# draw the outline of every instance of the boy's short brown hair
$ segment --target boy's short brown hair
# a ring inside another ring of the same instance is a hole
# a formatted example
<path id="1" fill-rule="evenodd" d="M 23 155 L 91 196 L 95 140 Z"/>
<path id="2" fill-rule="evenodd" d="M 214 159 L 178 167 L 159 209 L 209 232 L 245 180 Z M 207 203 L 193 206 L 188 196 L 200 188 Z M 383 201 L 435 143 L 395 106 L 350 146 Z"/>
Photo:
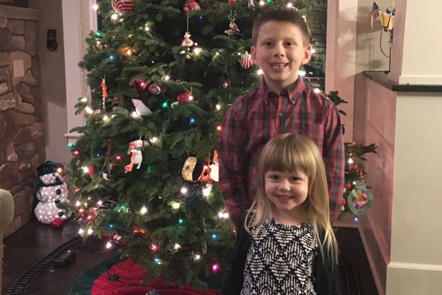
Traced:
<path id="1" fill-rule="evenodd" d="M 253 31 L 252 31 L 252 44 L 256 46 L 256 42 L 258 41 L 259 30 L 262 25 L 268 22 L 280 22 L 280 23 L 289 23 L 297 26 L 301 33 L 303 34 L 303 45 L 307 46 L 310 44 L 310 35 L 308 33 L 307 24 L 305 23 L 302 16 L 293 8 L 286 8 L 284 6 L 280 7 L 271 7 L 264 9 L 261 14 L 256 18 L 253 22 Z"/>

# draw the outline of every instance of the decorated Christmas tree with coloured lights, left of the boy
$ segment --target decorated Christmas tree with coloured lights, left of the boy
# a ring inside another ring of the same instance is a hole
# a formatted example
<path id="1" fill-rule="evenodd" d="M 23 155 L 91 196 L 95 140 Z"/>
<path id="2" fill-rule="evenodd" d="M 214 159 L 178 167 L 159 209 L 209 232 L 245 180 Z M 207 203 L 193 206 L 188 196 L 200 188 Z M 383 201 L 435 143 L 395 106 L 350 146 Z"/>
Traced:
<path id="1" fill-rule="evenodd" d="M 286 0 L 103 0 L 80 67 L 90 86 L 70 145 L 80 233 L 118 236 L 143 281 L 206 288 L 233 245 L 218 185 L 224 115 L 259 84 L 253 20 Z M 60 204 L 63 207 L 65 204 Z M 116 233 L 116 234 L 115 234 Z"/>

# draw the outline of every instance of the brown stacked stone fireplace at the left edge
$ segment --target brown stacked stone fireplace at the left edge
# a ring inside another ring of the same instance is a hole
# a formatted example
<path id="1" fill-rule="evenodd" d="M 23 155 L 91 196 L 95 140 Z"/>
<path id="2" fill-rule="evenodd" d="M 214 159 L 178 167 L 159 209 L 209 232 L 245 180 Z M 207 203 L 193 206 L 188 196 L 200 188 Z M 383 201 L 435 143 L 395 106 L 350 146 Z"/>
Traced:
<path id="1" fill-rule="evenodd" d="M 35 169 L 46 158 L 38 23 L 0 18 L 0 40 L 0 188 L 11 192 L 15 204 L 8 236 L 31 219 Z"/>

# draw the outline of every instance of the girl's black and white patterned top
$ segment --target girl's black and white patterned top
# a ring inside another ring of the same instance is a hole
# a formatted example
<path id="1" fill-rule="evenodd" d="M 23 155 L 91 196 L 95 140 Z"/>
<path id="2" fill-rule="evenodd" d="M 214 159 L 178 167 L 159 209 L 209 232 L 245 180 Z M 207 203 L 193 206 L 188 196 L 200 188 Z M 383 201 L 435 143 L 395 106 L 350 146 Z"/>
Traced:
<path id="1" fill-rule="evenodd" d="M 286 226 L 272 218 L 252 236 L 241 295 L 316 295 L 312 268 L 318 246 L 310 223 Z"/>

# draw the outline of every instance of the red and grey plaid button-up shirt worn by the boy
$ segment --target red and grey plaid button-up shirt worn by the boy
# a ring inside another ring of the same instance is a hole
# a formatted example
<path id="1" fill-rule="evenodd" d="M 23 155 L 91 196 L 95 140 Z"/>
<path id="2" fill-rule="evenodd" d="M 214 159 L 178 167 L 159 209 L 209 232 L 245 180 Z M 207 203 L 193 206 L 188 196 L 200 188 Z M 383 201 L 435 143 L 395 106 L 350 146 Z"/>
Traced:
<path id="1" fill-rule="evenodd" d="M 344 146 L 336 106 L 304 84 L 301 77 L 280 95 L 264 79 L 229 108 L 221 128 L 220 186 L 235 225 L 256 194 L 256 168 L 264 145 L 282 133 L 303 134 L 315 142 L 326 165 L 333 222 L 342 202 Z"/>

